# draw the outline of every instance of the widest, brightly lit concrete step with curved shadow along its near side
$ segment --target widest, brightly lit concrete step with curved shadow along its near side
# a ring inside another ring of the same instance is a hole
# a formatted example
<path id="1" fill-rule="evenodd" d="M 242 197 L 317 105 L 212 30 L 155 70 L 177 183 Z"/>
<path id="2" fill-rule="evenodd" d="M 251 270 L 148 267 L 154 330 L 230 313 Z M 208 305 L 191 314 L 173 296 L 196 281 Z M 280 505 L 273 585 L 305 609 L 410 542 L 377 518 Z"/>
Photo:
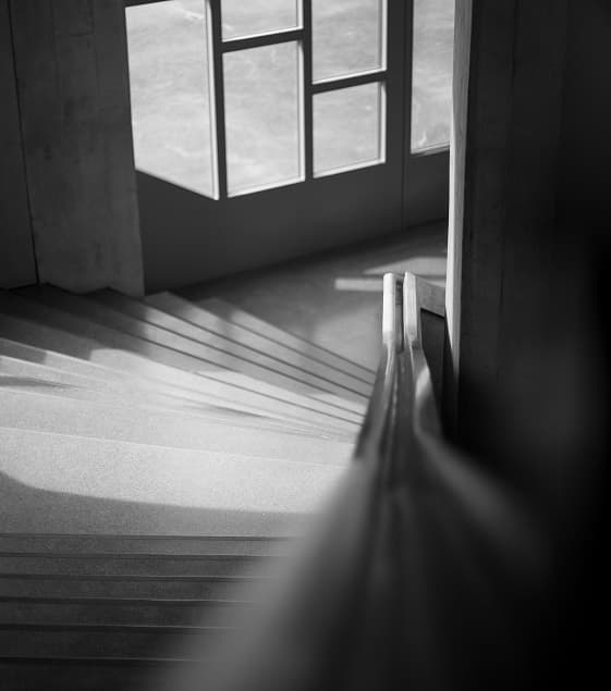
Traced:
<path id="1" fill-rule="evenodd" d="M 4 532 L 298 535 L 344 468 L 0 428 Z"/>

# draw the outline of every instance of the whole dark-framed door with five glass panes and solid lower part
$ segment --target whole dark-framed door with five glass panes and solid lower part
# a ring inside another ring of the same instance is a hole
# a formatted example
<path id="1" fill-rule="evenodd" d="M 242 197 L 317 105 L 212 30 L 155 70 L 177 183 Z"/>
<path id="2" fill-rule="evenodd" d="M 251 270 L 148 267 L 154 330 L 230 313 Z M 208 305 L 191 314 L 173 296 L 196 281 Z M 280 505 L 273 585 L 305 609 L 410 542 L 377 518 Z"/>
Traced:
<path id="1" fill-rule="evenodd" d="M 410 2 L 127 4 L 147 289 L 405 226 Z"/>

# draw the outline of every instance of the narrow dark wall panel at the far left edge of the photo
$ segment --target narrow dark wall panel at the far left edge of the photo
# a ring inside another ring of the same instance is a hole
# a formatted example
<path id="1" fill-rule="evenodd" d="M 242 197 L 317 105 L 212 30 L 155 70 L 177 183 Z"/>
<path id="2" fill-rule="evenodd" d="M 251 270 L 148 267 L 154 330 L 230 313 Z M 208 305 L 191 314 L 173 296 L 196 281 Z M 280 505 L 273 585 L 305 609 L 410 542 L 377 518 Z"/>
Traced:
<path id="1" fill-rule="evenodd" d="M 9 0 L 0 0 L 0 287 L 36 282 Z"/>

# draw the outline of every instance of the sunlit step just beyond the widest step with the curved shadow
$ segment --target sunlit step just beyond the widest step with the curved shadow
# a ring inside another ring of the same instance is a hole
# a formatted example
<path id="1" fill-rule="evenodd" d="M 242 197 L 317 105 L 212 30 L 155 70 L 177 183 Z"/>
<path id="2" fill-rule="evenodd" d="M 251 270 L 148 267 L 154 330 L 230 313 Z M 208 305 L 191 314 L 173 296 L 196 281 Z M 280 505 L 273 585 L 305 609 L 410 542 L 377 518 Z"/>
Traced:
<path id="1" fill-rule="evenodd" d="M 1 381 L 1 379 L 0 379 Z M 262 456 L 305 462 L 345 464 L 352 445 L 271 429 L 239 427 L 232 421 L 210 421 L 170 415 L 112 402 L 58 398 L 5 391 L 0 387 L 2 427 L 91 436 L 173 448 L 221 454 Z"/>

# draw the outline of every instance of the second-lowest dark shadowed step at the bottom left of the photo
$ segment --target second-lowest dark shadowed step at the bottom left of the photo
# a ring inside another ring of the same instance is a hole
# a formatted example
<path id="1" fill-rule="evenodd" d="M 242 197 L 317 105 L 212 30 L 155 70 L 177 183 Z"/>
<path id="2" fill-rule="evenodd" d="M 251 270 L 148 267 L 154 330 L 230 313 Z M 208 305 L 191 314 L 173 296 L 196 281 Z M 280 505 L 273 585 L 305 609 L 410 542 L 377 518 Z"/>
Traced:
<path id="1" fill-rule="evenodd" d="M 1 657 L 180 657 L 209 645 L 233 629 L 222 627 L 154 627 L 137 625 L 3 625 Z M 188 640 L 191 639 L 191 640 Z"/>

